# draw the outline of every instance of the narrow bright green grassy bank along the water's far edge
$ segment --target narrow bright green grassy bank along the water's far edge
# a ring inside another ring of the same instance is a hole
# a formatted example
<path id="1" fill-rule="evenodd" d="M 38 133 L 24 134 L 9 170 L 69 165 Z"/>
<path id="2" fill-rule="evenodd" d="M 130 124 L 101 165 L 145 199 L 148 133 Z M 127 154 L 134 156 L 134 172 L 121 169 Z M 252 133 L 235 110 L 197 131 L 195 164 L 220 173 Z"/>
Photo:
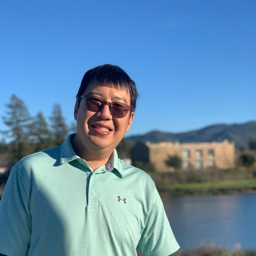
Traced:
<path id="1" fill-rule="evenodd" d="M 156 183 L 156 187 L 159 193 L 171 196 L 256 193 L 256 178 L 168 185 Z"/>

